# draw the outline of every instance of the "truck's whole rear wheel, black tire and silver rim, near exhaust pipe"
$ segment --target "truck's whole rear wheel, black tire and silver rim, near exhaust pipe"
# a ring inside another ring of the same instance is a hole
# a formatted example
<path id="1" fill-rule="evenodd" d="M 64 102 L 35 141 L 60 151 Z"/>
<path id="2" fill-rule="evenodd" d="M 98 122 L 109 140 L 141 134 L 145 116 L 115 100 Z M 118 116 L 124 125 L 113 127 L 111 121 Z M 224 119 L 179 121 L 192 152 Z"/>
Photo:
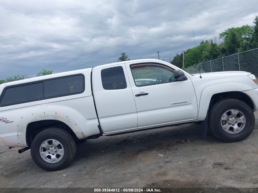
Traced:
<path id="1" fill-rule="evenodd" d="M 62 170 L 74 159 L 76 145 L 65 130 L 43 130 L 31 143 L 31 157 L 40 168 L 47 171 Z"/>

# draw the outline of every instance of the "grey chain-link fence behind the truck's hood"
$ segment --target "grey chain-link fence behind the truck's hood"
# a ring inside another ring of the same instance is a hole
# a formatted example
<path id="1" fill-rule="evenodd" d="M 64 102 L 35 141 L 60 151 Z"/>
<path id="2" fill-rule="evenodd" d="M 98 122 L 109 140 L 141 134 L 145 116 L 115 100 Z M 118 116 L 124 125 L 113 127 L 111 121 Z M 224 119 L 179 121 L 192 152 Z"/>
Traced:
<path id="1" fill-rule="evenodd" d="M 258 77 L 258 48 L 214 60 L 211 59 L 185 69 L 190 74 L 237 70 L 247 71 Z"/>

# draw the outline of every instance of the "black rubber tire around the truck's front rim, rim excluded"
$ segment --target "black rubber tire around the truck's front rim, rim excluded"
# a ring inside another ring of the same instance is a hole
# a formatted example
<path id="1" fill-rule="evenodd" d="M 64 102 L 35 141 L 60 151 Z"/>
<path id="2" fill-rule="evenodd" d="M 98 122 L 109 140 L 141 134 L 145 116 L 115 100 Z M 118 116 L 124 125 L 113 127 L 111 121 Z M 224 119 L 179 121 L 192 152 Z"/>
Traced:
<path id="1" fill-rule="evenodd" d="M 238 133 L 227 133 L 221 126 L 223 113 L 230 109 L 240 110 L 245 116 L 245 126 Z M 245 103 L 236 99 L 224 99 L 216 104 L 209 111 L 208 125 L 212 133 L 222 141 L 235 142 L 247 138 L 253 131 L 255 117 L 253 110 Z"/>

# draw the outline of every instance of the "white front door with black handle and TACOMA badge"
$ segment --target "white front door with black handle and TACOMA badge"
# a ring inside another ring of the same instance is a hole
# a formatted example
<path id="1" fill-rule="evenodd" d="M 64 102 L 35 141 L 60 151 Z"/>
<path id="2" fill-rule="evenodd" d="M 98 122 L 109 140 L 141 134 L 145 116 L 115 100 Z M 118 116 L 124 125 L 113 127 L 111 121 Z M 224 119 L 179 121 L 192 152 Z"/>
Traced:
<path id="1" fill-rule="evenodd" d="M 138 127 L 169 125 L 197 118 L 191 79 L 177 81 L 166 63 L 126 63 L 136 103 Z"/>

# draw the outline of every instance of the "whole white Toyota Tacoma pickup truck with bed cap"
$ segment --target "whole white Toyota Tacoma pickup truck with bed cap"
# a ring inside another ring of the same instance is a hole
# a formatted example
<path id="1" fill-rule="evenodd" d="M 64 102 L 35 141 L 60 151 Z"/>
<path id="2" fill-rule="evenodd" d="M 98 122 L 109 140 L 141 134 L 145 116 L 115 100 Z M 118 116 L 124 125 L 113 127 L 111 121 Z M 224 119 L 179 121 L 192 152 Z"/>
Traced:
<path id="1" fill-rule="evenodd" d="M 201 121 L 220 140 L 247 138 L 258 106 L 256 77 L 190 75 L 155 59 L 111 63 L 0 85 L 0 145 L 31 149 L 44 170 L 65 168 L 76 141 Z"/>

